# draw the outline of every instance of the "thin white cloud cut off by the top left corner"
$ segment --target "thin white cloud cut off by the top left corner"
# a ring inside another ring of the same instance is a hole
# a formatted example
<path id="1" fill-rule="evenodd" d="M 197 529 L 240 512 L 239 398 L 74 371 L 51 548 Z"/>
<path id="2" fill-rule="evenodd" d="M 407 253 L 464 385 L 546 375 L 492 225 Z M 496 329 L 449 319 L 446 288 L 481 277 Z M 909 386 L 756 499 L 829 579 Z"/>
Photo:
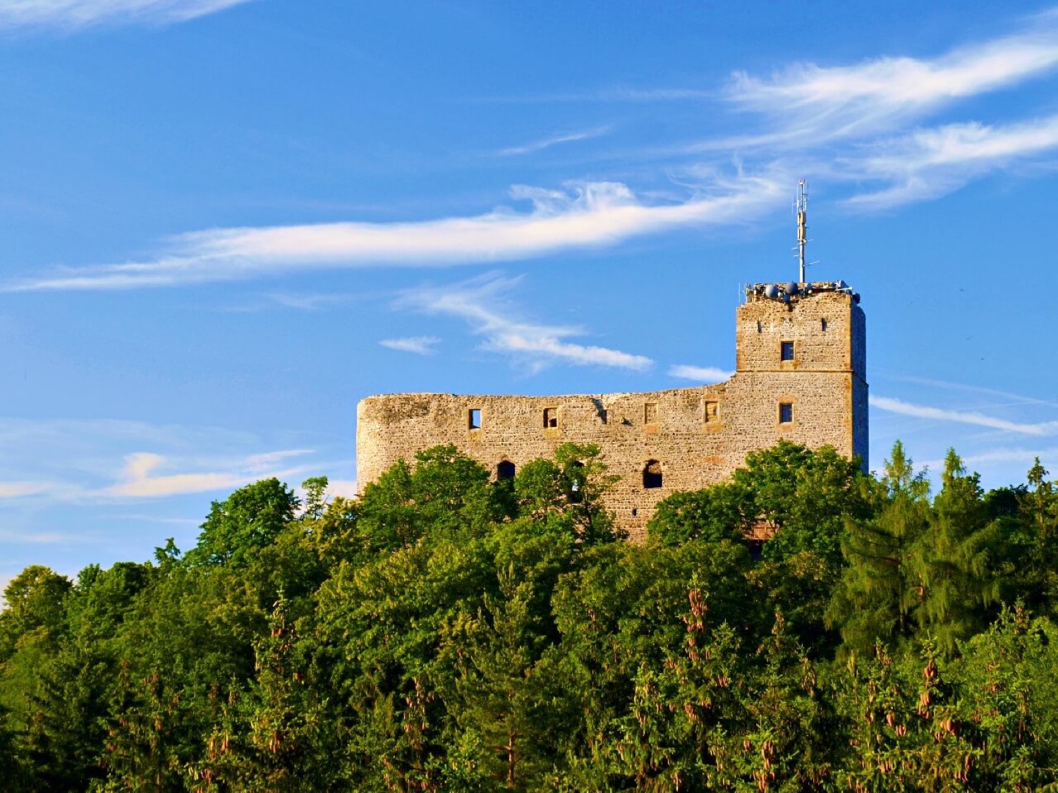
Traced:
<path id="1" fill-rule="evenodd" d="M 0 2 L 0 30 L 69 30 L 106 22 L 169 24 L 245 2 L 250 0 L 3 0 Z"/>

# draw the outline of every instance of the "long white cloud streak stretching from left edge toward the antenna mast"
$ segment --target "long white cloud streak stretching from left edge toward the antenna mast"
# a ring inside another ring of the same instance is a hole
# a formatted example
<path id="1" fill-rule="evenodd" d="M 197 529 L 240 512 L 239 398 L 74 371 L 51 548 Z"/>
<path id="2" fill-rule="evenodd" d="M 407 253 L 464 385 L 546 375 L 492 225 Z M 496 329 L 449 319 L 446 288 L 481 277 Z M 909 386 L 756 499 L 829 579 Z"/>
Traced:
<path id="1" fill-rule="evenodd" d="M 780 205 L 773 178 L 743 177 L 710 195 L 649 204 L 624 184 L 569 184 L 565 190 L 515 186 L 529 211 L 403 223 L 322 223 L 222 228 L 177 238 L 174 252 L 145 262 L 68 270 L 8 283 L 3 291 L 122 290 L 234 280 L 317 268 L 472 264 L 614 245 L 689 226 L 746 223 Z"/>

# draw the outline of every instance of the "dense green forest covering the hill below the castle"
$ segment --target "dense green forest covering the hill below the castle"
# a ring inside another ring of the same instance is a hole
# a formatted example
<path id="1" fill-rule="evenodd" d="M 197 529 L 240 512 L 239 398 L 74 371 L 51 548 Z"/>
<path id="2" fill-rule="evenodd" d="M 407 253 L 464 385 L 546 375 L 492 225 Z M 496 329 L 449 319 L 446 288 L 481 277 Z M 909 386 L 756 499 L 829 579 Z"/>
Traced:
<path id="1" fill-rule="evenodd" d="M 1058 790 L 1048 476 L 783 442 L 643 543 L 590 445 L 261 480 L 194 548 L 12 579 L 0 787 Z"/>

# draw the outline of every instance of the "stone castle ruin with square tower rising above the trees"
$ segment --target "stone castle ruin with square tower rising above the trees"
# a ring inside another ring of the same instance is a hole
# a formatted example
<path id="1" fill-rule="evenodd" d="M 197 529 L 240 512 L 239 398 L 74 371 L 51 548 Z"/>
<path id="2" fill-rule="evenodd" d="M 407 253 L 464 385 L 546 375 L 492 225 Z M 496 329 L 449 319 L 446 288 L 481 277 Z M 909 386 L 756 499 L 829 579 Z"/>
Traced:
<path id="1" fill-rule="evenodd" d="M 868 457 L 867 324 L 843 281 L 758 283 L 736 311 L 735 373 L 645 393 L 488 396 L 399 393 L 357 406 L 361 486 L 417 451 L 451 443 L 496 478 L 596 443 L 621 478 L 606 503 L 632 539 L 676 491 L 726 479 L 781 439 Z"/>

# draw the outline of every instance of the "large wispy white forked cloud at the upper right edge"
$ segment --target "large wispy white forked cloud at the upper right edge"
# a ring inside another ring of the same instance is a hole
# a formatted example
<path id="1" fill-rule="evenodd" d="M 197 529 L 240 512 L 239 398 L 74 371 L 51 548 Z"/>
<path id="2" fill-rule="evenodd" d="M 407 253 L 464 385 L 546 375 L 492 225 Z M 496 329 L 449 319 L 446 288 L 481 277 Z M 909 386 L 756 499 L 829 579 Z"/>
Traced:
<path id="1" fill-rule="evenodd" d="M 736 149 L 802 168 L 855 190 L 842 203 L 884 210 L 952 192 L 973 179 L 1033 164 L 1058 148 L 1058 117 L 985 124 L 931 115 L 957 102 L 1013 89 L 1058 71 L 1058 14 L 1026 30 L 935 57 L 880 57 L 820 67 L 806 62 L 767 78 L 736 73 L 728 102 L 763 124 L 735 137 L 687 147 L 699 154 Z M 910 128 L 910 129 L 909 129 Z M 1047 167 L 1047 164 L 1043 164 Z"/>

